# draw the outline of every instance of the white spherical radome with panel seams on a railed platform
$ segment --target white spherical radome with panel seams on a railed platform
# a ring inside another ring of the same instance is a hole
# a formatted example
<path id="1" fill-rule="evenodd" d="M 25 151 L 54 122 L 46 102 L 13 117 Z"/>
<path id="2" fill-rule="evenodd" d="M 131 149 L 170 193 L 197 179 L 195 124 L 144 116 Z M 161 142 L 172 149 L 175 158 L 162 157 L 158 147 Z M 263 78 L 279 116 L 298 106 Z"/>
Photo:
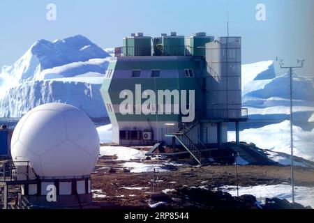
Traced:
<path id="1" fill-rule="evenodd" d="M 11 141 L 16 161 L 29 161 L 40 177 L 87 176 L 99 155 L 99 137 L 90 118 L 72 105 L 40 105 L 17 123 Z"/>

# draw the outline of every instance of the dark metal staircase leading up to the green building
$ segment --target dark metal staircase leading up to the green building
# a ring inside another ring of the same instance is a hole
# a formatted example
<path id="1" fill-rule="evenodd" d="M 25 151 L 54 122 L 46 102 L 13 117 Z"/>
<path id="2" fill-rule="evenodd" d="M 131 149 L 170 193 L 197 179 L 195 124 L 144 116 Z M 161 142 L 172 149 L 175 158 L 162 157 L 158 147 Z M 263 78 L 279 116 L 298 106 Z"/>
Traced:
<path id="1" fill-rule="evenodd" d="M 193 128 L 199 125 L 200 121 L 195 120 L 191 123 L 181 123 L 179 130 L 167 134 L 169 137 L 175 137 L 179 143 L 184 146 L 186 151 L 194 157 L 199 164 L 208 164 L 209 160 L 206 159 L 210 155 L 210 149 L 205 146 L 198 137 L 193 136 Z M 193 142 L 192 139 L 197 140 Z"/>

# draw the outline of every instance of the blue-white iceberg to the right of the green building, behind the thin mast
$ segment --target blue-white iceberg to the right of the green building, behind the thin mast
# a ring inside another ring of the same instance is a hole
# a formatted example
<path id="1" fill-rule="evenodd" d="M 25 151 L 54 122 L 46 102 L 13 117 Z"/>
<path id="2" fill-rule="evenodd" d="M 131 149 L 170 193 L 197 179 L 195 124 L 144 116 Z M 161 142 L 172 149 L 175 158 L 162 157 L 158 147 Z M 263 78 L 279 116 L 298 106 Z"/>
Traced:
<path id="1" fill-rule="evenodd" d="M 313 82 L 293 77 L 294 115 L 308 120 L 314 112 Z M 253 119 L 284 119 L 290 114 L 290 75 L 277 75 L 274 61 L 242 66 L 242 104 Z"/>

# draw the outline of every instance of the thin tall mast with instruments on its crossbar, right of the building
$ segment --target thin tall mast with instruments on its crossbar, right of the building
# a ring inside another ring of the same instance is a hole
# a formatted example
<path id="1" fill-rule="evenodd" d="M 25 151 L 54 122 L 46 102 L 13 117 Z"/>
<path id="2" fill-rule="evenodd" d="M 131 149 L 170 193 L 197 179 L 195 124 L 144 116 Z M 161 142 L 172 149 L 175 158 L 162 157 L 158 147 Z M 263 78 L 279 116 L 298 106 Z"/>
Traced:
<path id="1" fill-rule="evenodd" d="M 303 68 L 305 60 L 297 60 L 297 63 L 301 63 L 300 66 L 283 66 L 283 60 L 276 58 L 279 61 L 281 68 L 289 69 L 290 72 L 290 147 L 291 147 L 291 187 L 292 187 L 292 203 L 294 203 L 294 167 L 293 167 L 293 113 L 292 113 L 292 73 L 294 68 Z"/>

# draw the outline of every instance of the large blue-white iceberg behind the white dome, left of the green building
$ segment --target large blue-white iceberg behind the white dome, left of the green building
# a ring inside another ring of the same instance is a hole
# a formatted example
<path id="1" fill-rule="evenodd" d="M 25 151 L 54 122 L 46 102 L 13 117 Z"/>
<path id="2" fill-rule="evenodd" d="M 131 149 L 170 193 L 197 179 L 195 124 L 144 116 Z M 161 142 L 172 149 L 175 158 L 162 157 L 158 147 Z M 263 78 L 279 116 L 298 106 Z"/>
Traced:
<path id="1" fill-rule="evenodd" d="M 0 73 L 0 116 L 20 117 L 47 102 L 66 102 L 107 116 L 100 86 L 110 54 L 84 36 L 38 40 Z"/>

